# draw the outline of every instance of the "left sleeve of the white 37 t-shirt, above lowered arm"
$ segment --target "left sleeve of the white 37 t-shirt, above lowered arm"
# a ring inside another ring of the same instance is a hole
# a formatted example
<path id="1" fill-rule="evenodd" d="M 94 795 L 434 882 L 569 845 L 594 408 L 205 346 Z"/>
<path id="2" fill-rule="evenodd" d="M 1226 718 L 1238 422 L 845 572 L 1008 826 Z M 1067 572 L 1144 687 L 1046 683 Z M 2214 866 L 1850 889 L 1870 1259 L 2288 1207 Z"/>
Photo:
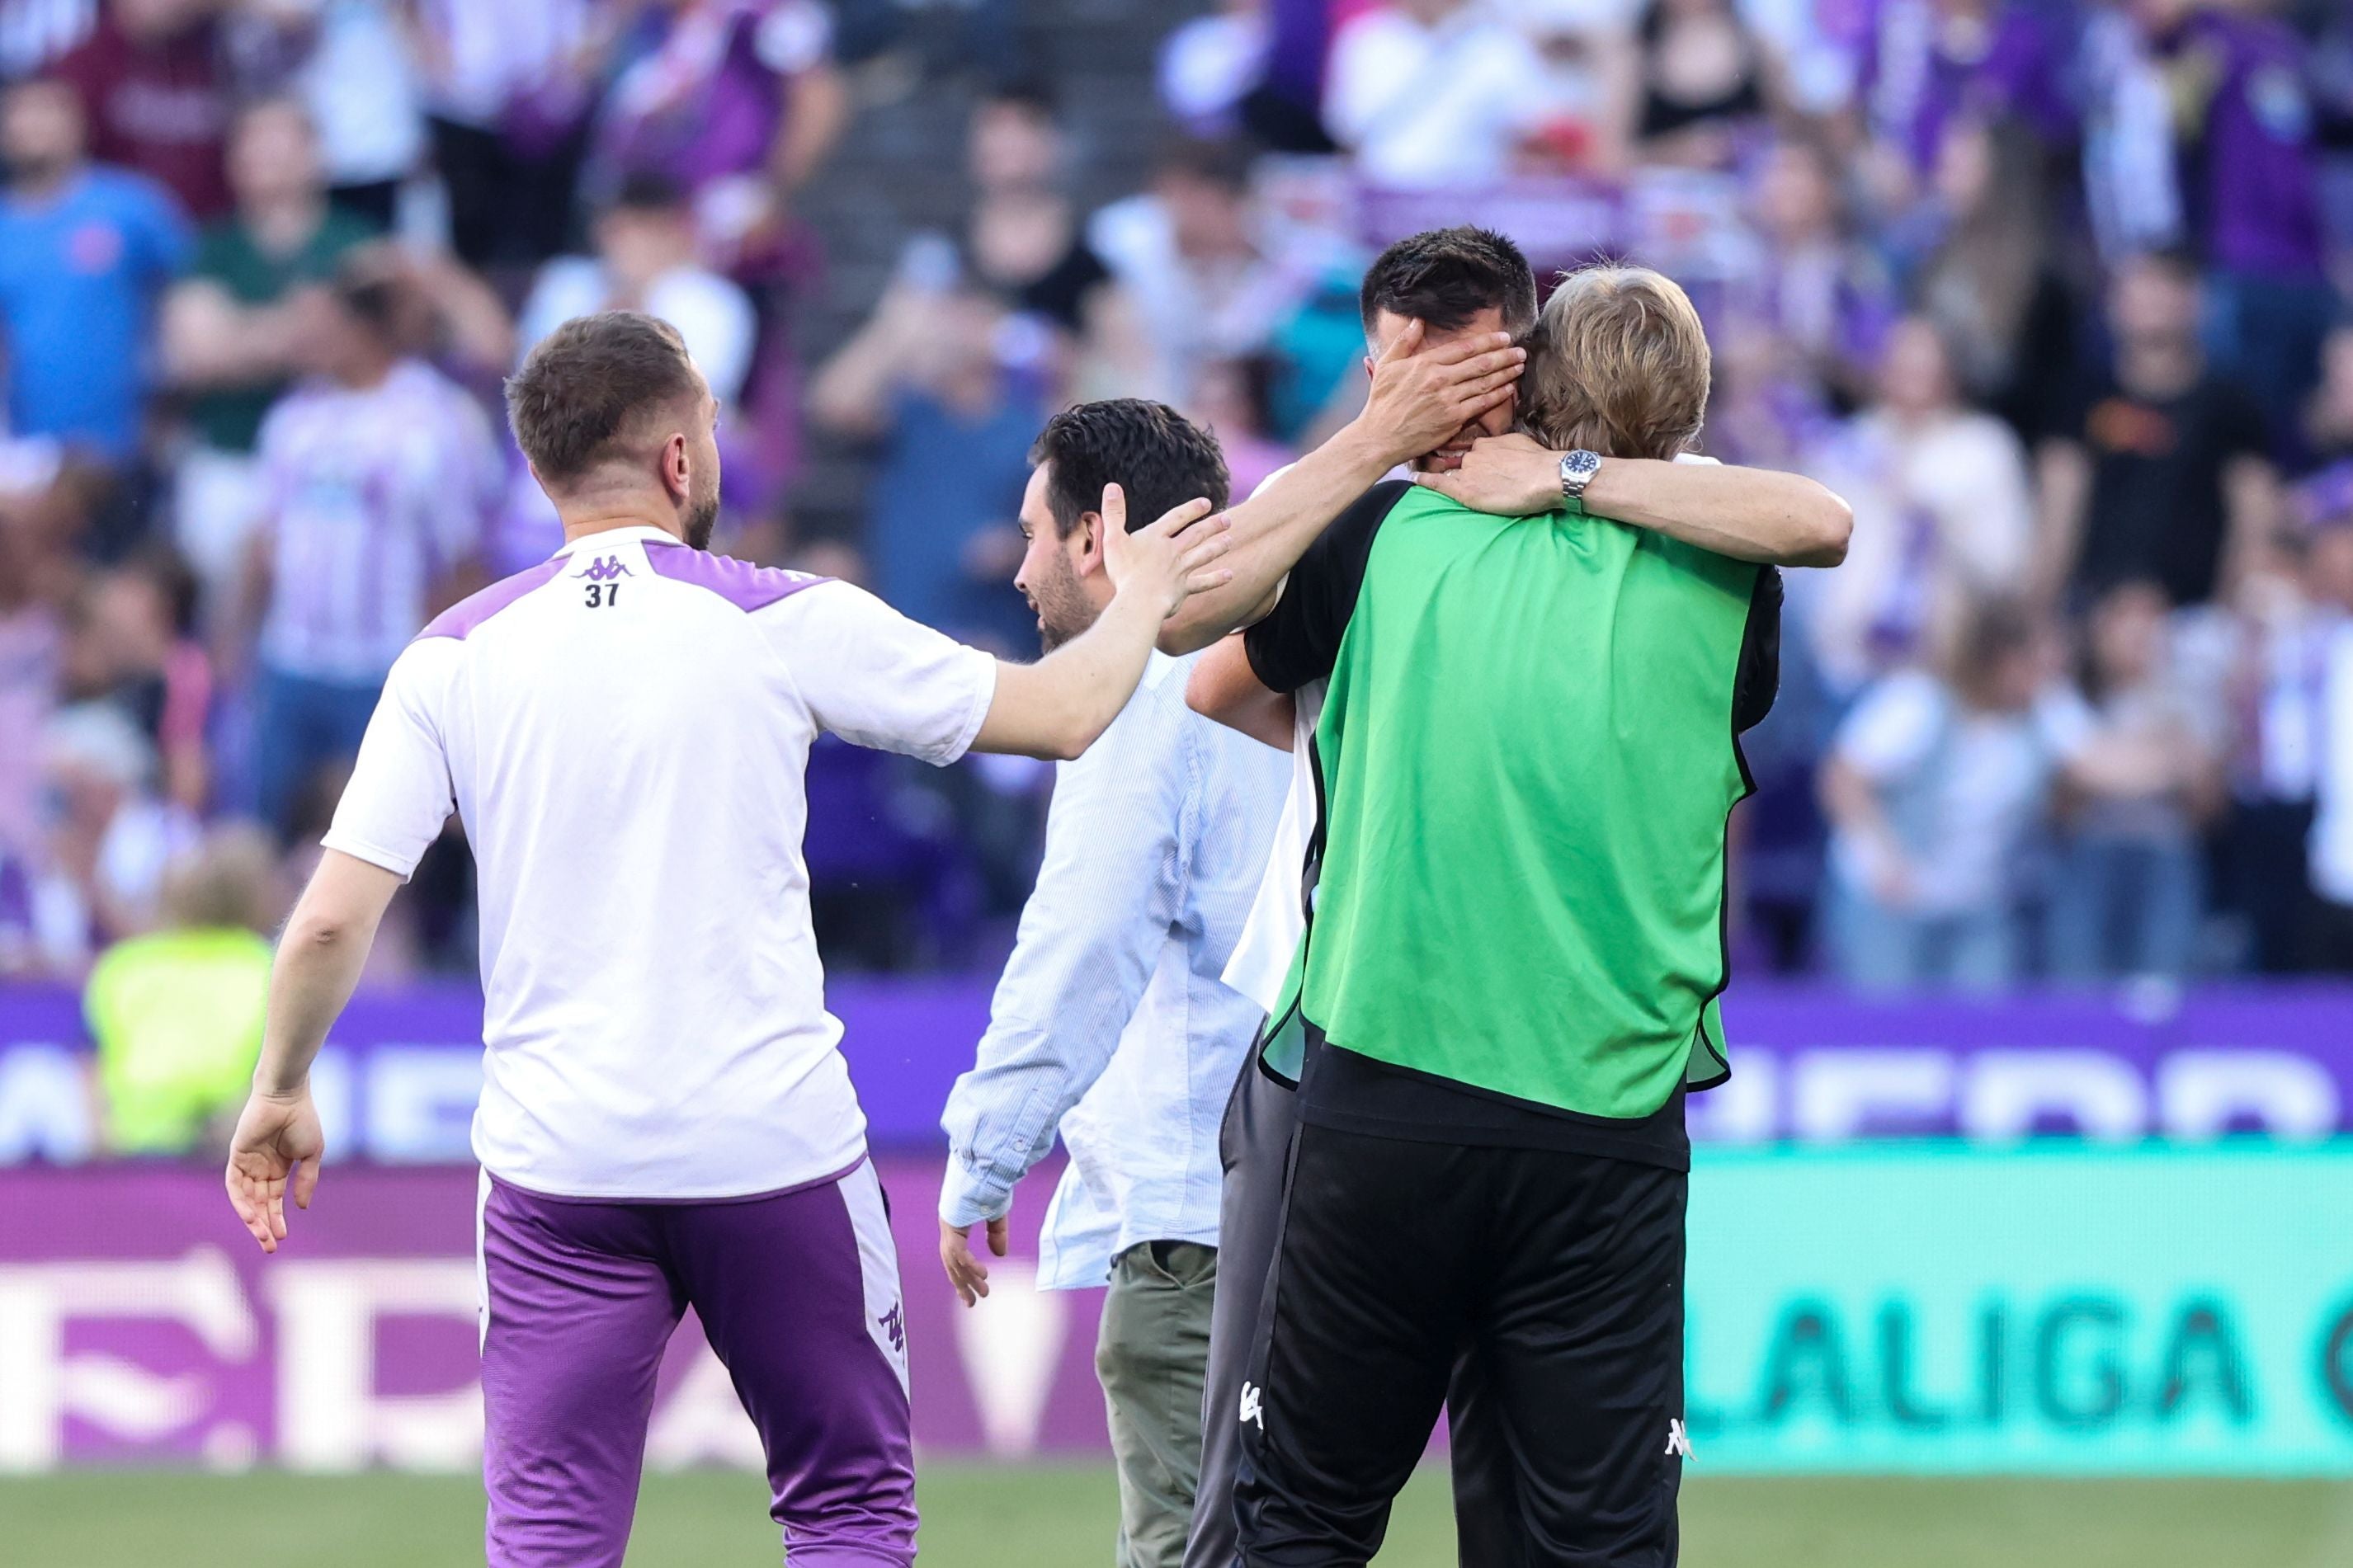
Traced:
<path id="1" fill-rule="evenodd" d="M 424 637 L 393 663 L 334 825 L 320 839 L 325 849 L 407 877 L 440 837 L 456 811 L 440 710 L 461 646 L 454 637 Z"/>

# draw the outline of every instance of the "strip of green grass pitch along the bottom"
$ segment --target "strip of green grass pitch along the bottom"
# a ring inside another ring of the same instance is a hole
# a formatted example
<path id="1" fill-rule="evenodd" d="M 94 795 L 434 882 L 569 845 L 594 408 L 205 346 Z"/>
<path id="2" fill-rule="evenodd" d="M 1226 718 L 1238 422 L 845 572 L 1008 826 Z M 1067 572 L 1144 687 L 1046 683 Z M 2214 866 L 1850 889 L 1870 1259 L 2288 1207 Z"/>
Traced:
<path id="1" fill-rule="evenodd" d="M 1106 1467 L 929 1465 L 922 1561 L 1108 1568 Z M 0 1481 L 12 1568 L 336 1568 L 480 1563 L 464 1476 L 80 1472 Z M 1687 1568 L 2353 1568 L 2353 1483 L 1706 1479 L 1685 1483 Z M 652 1476 L 631 1568 L 774 1563 L 746 1474 Z M 1454 1561 L 1445 1476 L 1398 1507 L 1386 1566 Z"/>

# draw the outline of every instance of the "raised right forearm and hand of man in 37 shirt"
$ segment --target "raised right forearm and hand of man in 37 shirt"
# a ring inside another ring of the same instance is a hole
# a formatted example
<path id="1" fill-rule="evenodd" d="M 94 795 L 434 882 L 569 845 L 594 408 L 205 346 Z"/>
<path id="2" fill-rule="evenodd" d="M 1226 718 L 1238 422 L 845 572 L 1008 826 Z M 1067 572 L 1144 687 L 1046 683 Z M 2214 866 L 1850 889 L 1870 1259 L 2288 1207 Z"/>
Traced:
<path id="1" fill-rule="evenodd" d="M 1033 665 L 998 665 L 998 689 L 972 738 L 976 752 L 1071 759 L 1127 708 L 1153 639 L 1186 595 L 1214 592 L 1233 576 L 1209 562 L 1226 552 L 1224 517 L 1186 501 L 1146 529 L 1127 531 L 1127 496 L 1104 487 L 1104 569 L 1113 595 L 1085 632 Z"/>

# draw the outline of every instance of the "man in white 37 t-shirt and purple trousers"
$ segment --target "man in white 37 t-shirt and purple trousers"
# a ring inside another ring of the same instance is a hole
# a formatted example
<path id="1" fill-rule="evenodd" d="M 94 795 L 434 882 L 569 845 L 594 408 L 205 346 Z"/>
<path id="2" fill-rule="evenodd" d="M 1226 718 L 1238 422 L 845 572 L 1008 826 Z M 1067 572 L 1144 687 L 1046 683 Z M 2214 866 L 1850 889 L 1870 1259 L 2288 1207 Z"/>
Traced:
<path id="1" fill-rule="evenodd" d="M 228 1194 L 264 1251 L 308 1206 L 308 1070 L 454 809 L 482 898 L 492 1568 L 619 1563 L 661 1349 L 694 1307 L 769 1460 L 795 1568 L 915 1554 L 906 1328 L 800 853 L 821 729 L 946 764 L 1075 757 L 1224 520 L 1129 534 L 1115 592 L 1005 665 L 826 578 L 708 555 L 715 402 L 675 329 L 555 329 L 508 381 L 565 548 L 433 621 L 384 689 L 271 978 Z"/>

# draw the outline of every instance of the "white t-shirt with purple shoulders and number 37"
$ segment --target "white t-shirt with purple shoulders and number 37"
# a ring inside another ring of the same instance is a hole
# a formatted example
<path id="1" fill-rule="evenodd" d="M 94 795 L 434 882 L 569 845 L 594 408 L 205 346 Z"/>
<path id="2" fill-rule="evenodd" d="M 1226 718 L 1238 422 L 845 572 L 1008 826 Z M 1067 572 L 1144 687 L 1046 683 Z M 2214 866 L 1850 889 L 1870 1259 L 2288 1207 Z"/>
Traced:
<path id="1" fill-rule="evenodd" d="M 948 764 L 993 696 L 993 658 L 873 595 L 659 529 L 591 534 L 428 625 L 325 846 L 407 877 L 466 823 L 482 1166 L 602 1199 L 854 1166 L 800 856 L 809 743 Z"/>

